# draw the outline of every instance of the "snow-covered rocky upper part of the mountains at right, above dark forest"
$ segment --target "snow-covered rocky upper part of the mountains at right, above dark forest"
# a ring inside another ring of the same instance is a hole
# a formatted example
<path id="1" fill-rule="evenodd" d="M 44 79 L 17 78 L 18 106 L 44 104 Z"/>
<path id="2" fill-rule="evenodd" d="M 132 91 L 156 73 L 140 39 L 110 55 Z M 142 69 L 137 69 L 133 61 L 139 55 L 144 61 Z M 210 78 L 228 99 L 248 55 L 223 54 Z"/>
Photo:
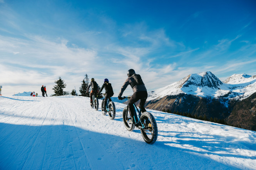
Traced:
<path id="1" fill-rule="evenodd" d="M 147 101 L 181 93 L 201 97 L 225 97 L 244 99 L 256 92 L 256 76 L 234 74 L 221 82 L 211 72 L 190 74 L 182 80 L 149 92 Z"/>

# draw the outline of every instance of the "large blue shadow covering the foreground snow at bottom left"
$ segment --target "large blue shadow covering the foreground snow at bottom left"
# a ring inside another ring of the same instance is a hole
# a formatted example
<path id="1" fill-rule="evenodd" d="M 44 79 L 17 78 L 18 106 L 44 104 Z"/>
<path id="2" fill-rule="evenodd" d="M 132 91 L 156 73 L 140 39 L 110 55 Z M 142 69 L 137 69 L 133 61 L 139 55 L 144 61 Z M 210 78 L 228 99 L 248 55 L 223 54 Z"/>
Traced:
<path id="1" fill-rule="evenodd" d="M 69 125 L 0 123 L 0 169 L 236 169 L 194 154 L 202 152 L 166 144 Z"/>

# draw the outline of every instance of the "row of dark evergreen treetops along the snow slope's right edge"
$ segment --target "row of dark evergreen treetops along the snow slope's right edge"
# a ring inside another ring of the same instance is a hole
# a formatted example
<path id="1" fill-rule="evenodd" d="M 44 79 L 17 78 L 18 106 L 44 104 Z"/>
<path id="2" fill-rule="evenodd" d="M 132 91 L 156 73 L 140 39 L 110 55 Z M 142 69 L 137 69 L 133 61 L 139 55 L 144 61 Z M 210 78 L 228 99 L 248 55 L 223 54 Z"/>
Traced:
<path id="1" fill-rule="evenodd" d="M 162 111 L 167 112 L 167 113 L 171 113 L 171 111 L 169 109 L 167 109 L 167 111 L 165 109 L 163 109 Z M 190 118 L 198 119 L 198 120 L 205 120 L 205 121 L 214 122 L 214 123 L 223 124 L 223 125 L 229 125 L 224 119 L 218 119 L 216 117 L 214 117 L 214 118 L 211 117 L 210 119 L 208 119 L 206 117 L 206 115 L 196 116 L 196 115 L 192 115 L 188 112 L 176 112 L 176 111 L 174 111 L 173 114 L 177 114 L 177 115 L 185 116 L 185 117 L 190 117 Z"/>

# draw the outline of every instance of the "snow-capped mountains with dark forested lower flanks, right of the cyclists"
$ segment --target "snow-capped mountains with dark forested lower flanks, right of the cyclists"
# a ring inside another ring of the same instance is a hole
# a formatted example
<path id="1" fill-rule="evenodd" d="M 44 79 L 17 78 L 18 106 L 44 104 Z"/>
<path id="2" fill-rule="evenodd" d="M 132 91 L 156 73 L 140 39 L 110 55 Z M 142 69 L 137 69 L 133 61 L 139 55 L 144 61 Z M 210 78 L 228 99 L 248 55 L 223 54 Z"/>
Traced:
<path id="1" fill-rule="evenodd" d="M 148 92 L 146 108 L 224 119 L 229 124 L 256 130 L 256 122 L 251 121 L 256 116 L 256 108 L 251 104 L 256 95 L 252 94 L 256 94 L 256 76 L 233 74 L 222 82 L 211 72 L 202 72 Z"/>

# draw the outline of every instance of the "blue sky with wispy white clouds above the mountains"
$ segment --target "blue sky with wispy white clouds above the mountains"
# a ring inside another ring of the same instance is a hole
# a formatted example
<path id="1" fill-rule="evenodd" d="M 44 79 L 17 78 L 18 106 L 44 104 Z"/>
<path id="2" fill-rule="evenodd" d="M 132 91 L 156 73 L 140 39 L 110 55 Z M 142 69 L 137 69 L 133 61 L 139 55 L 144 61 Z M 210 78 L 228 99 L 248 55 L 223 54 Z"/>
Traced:
<path id="1" fill-rule="evenodd" d="M 131 68 L 148 91 L 205 71 L 256 75 L 255 30 L 255 0 L 0 0 L 2 95 L 53 94 L 59 77 L 79 93 L 88 74 L 117 97 Z"/>

